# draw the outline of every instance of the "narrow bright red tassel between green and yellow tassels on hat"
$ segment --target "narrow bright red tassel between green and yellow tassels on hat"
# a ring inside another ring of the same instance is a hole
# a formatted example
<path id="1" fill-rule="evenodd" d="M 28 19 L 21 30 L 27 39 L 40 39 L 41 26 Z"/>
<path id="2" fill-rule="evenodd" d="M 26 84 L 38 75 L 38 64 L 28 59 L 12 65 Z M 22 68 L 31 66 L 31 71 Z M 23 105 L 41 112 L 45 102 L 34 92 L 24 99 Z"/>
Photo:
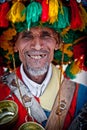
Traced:
<path id="1" fill-rule="evenodd" d="M 47 3 L 47 0 L 43 0 L 43 2 L 42 2 L 42 15 L 41 15 L 42 22 L 48 21 L 48 11 L 49 11 L 49 5 Z"/>

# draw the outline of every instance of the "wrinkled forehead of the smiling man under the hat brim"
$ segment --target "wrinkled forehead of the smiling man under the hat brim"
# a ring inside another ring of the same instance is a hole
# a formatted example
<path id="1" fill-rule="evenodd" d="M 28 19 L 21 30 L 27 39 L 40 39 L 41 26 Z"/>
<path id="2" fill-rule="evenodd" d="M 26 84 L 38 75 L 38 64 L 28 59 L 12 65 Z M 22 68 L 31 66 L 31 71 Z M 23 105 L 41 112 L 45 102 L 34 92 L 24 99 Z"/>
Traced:
<path id="1" fill-rule="evenodd" d="M 16 35 L 14 43 L 18 39 L 21 39 L 22 37 L 29 37 L 31 35 L 34 35 L 34 36 L 36 36 L 36 35 L 37 36 L 46 36 L 47 35 L 52 38 L 55 38 L 58 44 L 60 44 L 60 41 L 61 41 L 60 34 L 58 32 L 56 32 L 55 30 L 53 30 L 52 28 L 36 26 L 36 27 L 30 28 L 30 30 L 24 30 L 24 31 L 18 33 L 18 35 Z"/>

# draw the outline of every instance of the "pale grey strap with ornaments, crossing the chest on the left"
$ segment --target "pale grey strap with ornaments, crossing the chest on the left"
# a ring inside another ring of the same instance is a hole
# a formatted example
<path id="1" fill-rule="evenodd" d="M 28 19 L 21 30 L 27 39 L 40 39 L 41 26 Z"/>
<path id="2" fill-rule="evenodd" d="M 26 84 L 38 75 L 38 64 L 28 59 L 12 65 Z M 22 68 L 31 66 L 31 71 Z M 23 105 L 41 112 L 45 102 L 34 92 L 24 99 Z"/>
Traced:
<path id="1" fill-rule="evenodd" d="M 12 93 L 16 95 L 21 103 L 24 103 L 24 106 L 28 108 L 28 113 L 30 116 L 36 119 L 37 122 L 41 123 L 44 120 L 47 120 L 47 116 L 38 103 L 38 101 L 31 94 L 29 89 L 24 85 L 24 83 L 18 78 L 18 85 L 20 86 L 21 95 L 19 93 L 19 89 L 17 86 L 16 75 L 14 73 L 10 73 L 7 77 L 5 77 L 6 84 L 9 86 Z M 22 96 L 22 97 L 21 97 Z M 23 99 L 23 102 L 22 102 Z"/>

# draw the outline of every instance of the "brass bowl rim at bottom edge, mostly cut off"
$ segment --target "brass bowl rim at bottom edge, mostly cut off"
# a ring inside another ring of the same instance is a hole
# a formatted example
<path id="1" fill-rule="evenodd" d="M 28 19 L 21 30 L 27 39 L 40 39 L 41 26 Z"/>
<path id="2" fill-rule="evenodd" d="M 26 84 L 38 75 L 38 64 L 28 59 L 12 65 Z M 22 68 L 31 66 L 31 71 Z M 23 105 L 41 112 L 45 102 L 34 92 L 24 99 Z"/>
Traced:
<path id="1" fill-rule="evenodd" d="M 45 129 L 36 122 L 26 122 L 22 124 L 18 130 L 45 130 Z"/>

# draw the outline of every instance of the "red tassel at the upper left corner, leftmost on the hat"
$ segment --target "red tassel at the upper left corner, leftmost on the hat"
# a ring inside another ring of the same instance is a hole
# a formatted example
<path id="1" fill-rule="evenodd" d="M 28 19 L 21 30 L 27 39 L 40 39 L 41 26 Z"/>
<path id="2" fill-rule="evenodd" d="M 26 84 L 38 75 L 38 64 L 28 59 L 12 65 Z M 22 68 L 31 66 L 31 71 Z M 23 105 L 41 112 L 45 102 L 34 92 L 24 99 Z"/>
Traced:
<path id="1" fill-rule="evenodd" d="M 6 15 L 10 9 L 9 3 L 5 2 L 0 5 L 0 27 L 8 27 L 9 21 L 6 19 Z"/>

